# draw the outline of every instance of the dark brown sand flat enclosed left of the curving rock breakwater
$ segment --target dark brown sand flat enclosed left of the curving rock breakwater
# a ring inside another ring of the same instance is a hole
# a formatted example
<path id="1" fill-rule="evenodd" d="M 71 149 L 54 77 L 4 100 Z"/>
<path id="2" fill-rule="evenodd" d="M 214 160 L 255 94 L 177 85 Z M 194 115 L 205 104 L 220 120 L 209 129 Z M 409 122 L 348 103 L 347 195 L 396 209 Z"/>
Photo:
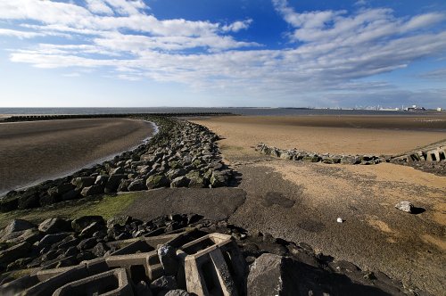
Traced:
<path id="1" fill-rule="evenodd" d="M 82 169 L 142 143 L 153 126 L 134 119 L 0 124 L 0 193 Z"/>

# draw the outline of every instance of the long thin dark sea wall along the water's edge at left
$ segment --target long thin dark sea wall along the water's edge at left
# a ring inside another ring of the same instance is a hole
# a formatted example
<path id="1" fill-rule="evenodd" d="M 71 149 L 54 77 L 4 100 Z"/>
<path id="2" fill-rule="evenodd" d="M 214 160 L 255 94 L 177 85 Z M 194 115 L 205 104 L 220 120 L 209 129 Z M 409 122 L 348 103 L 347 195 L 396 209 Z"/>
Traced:
<path id="1" fill-rule="evenodd" d="M 195 117 L 195 116 L 225 116 L 225 115 L 236 115 L 236 114 L 233 114 L 231 112 L 171 112 L 171 113 L 18 115 L 5 118 L 0 122 L 37 121 L 37 120 L 55 120 L 55 119 L 134 118 L 134 117 L 147 117 L 147 116 Z"/>

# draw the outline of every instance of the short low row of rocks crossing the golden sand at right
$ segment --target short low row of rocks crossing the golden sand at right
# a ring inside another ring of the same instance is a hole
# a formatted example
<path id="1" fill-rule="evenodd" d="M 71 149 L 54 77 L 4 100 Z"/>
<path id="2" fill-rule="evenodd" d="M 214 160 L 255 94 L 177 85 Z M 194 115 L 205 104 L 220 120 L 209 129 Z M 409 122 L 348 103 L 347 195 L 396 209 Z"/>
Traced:
<path id="1" fill-rule="evenodd" d="M 381 162 L 389 162 L 389 156 L 376 155 L 337 155 L 337 154 L 317 154 L 313 152 L 305 152 L 297 149 L 285 150 L 274 146 L 260 143 L 255 147 L 256 151 L 268 156 L 277 157 L 284 160 L 300 160 L 307 162 L 323 162 L 328 164 L 343 163 L 343 164 L 360 164 L 370 165 Z"/>

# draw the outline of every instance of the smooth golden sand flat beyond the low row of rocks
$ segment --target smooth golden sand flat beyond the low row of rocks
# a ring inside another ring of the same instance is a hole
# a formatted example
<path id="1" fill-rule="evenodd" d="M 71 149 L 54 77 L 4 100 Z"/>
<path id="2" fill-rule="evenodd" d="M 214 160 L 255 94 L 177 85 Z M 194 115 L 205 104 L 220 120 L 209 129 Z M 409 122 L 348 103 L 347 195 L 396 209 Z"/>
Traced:
<path id="1" fill-rule="evenodd" d="M 250 153 L 263 142 L 318 153 L 398 154 L 446 139 L 446 114 L 438 116 L 238 116 L 194 122 L 230 133 L 229 153 Z"/>

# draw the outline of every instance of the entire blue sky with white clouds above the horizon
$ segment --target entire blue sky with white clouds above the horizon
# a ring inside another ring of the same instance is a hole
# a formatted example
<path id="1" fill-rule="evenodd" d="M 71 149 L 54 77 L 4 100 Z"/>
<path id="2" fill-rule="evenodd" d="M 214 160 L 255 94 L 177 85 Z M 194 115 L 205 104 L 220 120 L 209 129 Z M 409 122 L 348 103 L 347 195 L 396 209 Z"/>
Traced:
<path id="1" fill-rule="evenodd" d="M 446 108 L 444 0 L 0 0 L 0 107 Z"/>

